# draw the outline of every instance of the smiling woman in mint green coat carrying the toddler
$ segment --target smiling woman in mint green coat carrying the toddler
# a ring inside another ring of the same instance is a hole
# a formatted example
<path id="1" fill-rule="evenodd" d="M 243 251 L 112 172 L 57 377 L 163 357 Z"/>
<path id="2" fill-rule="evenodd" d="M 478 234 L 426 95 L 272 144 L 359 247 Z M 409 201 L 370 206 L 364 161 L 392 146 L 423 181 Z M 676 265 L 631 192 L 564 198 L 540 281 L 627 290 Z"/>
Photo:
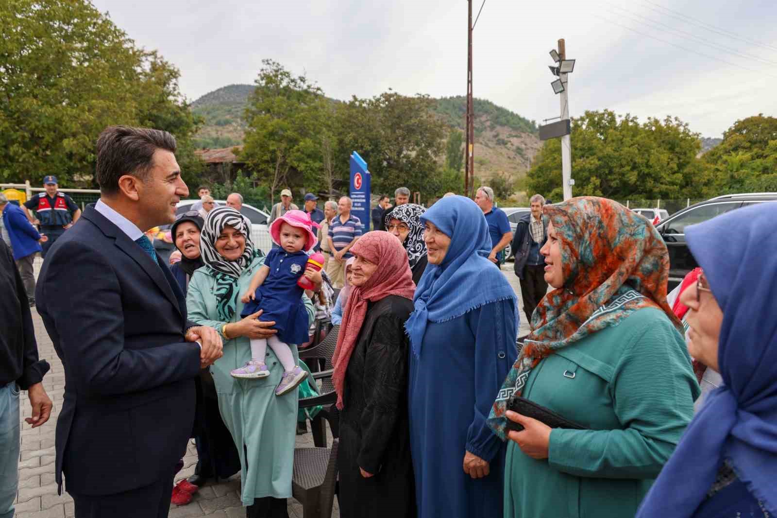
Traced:
<path id="1" fill-rule="evenodd" d="M 241 497 L 246 516 L 287 516 L 285 499 L 291 496 L 297 390 L 277 397 L 274 389 L 283 375 L 274 353 L 267 351 L 270 376 L 239 380 L 229 372 L 251 357 L 249 339 L 275 334 L 274 322 L 256 320 L 259 313 L 240 319 L 242 302 L 253 274 L 264 257 L 251 241 L 250 222 L 234 208 L 214 208 L 200 236 L 207 268 L 194 272 L 186 296 L 190 319 L 216 328 L 224 338 L 225 353 L 211 366 L 218 406 L 238 446 L 242 465 Z M 303 296 L 310 322 L 313 306 Z M 296 345 L 291 345 L 297 361 Z"/>

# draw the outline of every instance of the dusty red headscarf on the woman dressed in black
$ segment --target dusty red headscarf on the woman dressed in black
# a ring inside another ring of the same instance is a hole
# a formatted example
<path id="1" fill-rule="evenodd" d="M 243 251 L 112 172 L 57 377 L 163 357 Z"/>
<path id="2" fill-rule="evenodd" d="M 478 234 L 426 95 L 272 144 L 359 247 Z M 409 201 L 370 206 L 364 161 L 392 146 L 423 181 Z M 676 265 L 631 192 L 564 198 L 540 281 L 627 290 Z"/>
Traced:
<path id="1" fill-rule="evenodd" d="M 340 324 L 340 335 L 337 337 L 337 347 L 332 357 L 332 382 L 337 392 L 337 408 L 340 409 L 343 408 L 345 371 L 350 355 L 354 352 L 361 324 L 364 324 L 364 317 L 367 315 L 367 303 L 385 299 L 389 295 L 413 300 L 413 293 L 416 292 L 405 248 L 392 234 L 368 232 L 357 240 L 350 252 L 377 264 L 378 269 L 364 285 L 350 289 L 343 323 Z"/>

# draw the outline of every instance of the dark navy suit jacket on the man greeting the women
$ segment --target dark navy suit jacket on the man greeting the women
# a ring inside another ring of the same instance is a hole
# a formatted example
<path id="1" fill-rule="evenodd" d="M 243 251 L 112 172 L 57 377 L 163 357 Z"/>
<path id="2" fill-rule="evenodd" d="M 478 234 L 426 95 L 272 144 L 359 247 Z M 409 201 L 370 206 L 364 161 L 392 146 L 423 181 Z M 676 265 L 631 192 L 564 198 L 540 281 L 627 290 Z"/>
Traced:
<path id="1" fill-rule="evenodd" d="M 56 480 L 110 495 L 169 477 L 194 419 L 200 348 L 169 269 L 89 205 L 49 250 L 37 308 L 64 366 Z M 171 481 L 172 482 L 172 481 Z"/>

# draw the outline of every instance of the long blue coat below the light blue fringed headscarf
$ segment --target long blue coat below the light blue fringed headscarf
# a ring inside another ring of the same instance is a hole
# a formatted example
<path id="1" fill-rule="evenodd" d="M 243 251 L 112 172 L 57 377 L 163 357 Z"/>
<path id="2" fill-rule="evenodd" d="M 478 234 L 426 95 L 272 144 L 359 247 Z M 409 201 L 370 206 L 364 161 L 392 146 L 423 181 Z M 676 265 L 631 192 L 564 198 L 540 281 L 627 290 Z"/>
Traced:
<path id="1" fill-rule="evenodd" d="M 501 518 L 505 445 L 486 418 L 517 357 L 515 300 L 427 322 L 418 358 L 410 353 L 410 446 L 418 518 Z M 465 474 L 465 451 L 490 474 Z"/>

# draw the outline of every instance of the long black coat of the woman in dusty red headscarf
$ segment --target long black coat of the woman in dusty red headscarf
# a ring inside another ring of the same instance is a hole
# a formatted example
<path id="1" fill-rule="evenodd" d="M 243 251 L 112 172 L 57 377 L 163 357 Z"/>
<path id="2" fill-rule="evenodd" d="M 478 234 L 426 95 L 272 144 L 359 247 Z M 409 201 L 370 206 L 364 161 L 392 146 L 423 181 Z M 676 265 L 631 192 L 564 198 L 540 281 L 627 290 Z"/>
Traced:
<path id="1" fill-rule="evenodd" d="M 368 303 L 340 411 L 341 516 L 416 516 L 404 327 L 412 311 L 413 301 L 395 295 Z M 360 467 L 375 477 L 363 478 Z"/>

